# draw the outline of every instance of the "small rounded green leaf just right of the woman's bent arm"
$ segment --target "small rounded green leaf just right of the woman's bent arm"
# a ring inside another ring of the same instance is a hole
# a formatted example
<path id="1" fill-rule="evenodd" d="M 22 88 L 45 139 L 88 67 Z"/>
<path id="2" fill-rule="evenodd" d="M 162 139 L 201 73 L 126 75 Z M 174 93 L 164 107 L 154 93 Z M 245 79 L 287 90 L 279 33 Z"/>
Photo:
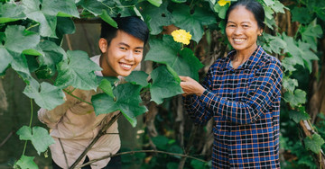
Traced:
<path id="1" fill-rule="evenodd" d="M 301 89 L 296 89 L 294 93 L 284 93 L 284 101 L 289 102 L 292 107 L 296 107 L 306 102 L 306 93 Z"/>

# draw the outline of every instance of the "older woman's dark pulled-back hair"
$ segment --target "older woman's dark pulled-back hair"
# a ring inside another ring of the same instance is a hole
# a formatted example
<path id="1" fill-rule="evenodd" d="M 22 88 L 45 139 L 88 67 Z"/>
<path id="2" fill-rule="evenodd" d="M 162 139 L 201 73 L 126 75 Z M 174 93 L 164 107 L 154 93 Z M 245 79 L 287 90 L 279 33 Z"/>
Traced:
<path id="1" fill-rule="evenodd" d="M 233 4 L 230 4 L 226 13 L 226 22 L 228 22 L 229 13 L 238 6 L 245 6 L 246 10 L 254 14 L 258 27 L 262 29 L 265 28 L 265 10 L 262 4 L 259 4 L 255 0 L 238 0 Z"/>

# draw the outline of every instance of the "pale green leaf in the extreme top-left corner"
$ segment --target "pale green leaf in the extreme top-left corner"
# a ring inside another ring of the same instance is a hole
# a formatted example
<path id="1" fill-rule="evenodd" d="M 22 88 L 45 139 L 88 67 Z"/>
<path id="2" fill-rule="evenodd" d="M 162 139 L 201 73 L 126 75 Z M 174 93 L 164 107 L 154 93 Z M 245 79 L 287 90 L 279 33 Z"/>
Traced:
<path id="1" fill-rule="evenodd" d="M 0 5 L 0 23 L 14 22 L 25 18 L 22 5 L 11 2 Z"/>

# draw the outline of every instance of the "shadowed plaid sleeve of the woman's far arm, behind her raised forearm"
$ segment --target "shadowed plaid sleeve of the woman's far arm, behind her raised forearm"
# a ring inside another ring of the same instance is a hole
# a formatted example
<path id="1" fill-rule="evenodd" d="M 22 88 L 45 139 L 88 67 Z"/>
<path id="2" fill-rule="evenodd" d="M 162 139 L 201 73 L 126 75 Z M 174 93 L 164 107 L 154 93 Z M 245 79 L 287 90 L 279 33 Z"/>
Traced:
<path id="1" fill-rule="evenodd" d="M 209 68 L 202 86 L 206 89 L 211 89 L 212 67 Z M 206 109 L 206 104 L 200 100 L 200 97 L 193 94 L 183 98 L 185 110 L 189 113 L 190 118 L 198 124 L 204 124 L 211 119 L 211 112 Z"/>

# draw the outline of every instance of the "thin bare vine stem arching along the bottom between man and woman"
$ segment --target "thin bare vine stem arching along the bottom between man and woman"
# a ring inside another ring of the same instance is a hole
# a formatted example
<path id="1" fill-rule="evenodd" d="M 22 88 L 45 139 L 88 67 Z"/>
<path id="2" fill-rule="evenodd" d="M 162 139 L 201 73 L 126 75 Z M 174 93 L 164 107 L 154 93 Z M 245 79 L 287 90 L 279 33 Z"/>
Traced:
<path id="1" fill-rule="evenodd" d="M 135 153 L 160 153 L 160 154 L 165 154 L 165 155 L 170 155 L 170 156 L 181 156 L 181 157 L 187 157 L 187 158 L 192 158 L 192 159 L 195 159 L 195 160 L 198 160 L 198 161 L 201 161 L 203 163 L 208 163 L 207 161 L 205 160 L 202 160 L 200 158 L 197 158 L 195 156 L 188 156 L 188 155 L 183 155 L 183 154 L 176 154 L 176 153 L 170 153 L 170 152 L 166 152 L 166 151 L 159 151 L 159 150 L 138 150 L 138 151 L 128 151 L 128 152 L 122 152 L 122 153 L 117 153 L 115 155 L 108 155 L 108 156 L 103 156 L 101 158 L 98 158 L 98 159 L 94 159 L 94 160 L 90 160 L 88 163 L 85 163 L 83 165 L 80 165 L 76 168 L 81 168 L 83 166 L 86 166 L 86 165 L 90 165 L 92 163 L 95 163 L 95 162 L 98 162 L 100 160 L 103 160 L 103 159 L 106 159 L 106 158 L 109 158 L 109 157 L 113 157 L 113 156 L 122 156 L 122 155 L 129 155 L 129 154 L 135 154 Z"/>

